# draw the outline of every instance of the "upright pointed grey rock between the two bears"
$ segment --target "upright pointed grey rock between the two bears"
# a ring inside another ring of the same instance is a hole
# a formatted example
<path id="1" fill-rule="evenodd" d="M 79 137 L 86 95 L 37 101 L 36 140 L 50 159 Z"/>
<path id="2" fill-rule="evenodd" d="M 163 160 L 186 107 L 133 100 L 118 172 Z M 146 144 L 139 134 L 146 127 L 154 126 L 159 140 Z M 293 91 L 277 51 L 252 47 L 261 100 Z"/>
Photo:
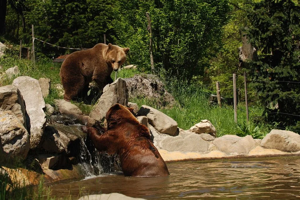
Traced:
<path id="1" fill-rule="evenodd" d="M 115 82 L 108 84 L 103 88 L 103 94 L 89 116 L 95 120 L 101 121 L 105 117 L 108 109 L 116 103 L 124 106 L 127 106 L 128 104 L 126 81 L 122 78 L 118 78 Z"/>

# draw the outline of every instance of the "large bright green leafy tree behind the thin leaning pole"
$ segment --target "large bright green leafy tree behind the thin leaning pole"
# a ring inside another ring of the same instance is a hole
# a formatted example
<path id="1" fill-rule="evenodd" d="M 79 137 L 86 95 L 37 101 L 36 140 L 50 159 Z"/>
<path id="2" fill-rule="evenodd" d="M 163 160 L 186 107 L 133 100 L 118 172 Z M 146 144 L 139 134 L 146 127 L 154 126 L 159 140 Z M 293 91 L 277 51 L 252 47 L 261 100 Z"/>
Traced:
<path id="1" fill-rule="evenodd" d="M 156 70 L 162 67 L 170 77 L 190 82 L 203 73 L 221 46 L 221 30 L 229 10 L 226 0 L 122 0 L 115 7 L 112 25 L 116 42 L 131 48 L 130 62 L 150 70 L 145 16 L 149 12 Z"/>

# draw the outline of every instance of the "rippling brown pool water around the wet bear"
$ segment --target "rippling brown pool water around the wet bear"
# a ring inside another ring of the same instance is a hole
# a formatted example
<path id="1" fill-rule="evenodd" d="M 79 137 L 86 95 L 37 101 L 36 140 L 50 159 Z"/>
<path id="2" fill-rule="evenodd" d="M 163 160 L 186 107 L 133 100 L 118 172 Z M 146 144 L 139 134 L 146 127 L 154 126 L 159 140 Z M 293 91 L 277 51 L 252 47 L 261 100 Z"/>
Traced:
<path id="1" fill-rule="evenodd" d="M 51 186 L 64 198 L 119 192 L 145 199 L 300 199 L 300 159 L 260 161 L 176 162 L 169 177 L 135 178 L 102 174 Z"/>

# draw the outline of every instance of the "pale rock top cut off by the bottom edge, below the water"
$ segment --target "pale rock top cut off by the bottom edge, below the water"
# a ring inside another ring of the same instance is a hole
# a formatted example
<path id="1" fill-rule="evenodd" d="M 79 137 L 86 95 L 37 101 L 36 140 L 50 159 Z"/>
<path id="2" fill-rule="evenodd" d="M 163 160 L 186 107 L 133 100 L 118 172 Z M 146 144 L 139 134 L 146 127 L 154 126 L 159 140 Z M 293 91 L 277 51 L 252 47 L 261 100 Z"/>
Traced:
<path id="1" fill-rule="evenodd" d="M 110 193 L 110 194 L 96 194 L 96 195 L 86 195 L 80 197 L 78 200 L 144 200 L 144 198 L 133 198 L 119 193 Z"/>

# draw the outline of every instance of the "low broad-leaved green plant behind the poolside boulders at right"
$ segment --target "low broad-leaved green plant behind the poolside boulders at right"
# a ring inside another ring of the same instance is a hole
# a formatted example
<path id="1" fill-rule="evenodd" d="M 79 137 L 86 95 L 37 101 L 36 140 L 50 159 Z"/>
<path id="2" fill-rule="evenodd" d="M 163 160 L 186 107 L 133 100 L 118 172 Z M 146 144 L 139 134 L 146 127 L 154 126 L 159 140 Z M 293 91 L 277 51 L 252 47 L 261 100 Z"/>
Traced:
<path id="1" fill-rule="evenodd" d="M 251 135 L 253 139 L 262 139 L 265 137 L 266 133 L 263 134 L 260 131 L 259 126 L 255 126 L 250 123 L 243 123 L 243 124 L 237 124 L 236 135 L 240 137 Z"/>

